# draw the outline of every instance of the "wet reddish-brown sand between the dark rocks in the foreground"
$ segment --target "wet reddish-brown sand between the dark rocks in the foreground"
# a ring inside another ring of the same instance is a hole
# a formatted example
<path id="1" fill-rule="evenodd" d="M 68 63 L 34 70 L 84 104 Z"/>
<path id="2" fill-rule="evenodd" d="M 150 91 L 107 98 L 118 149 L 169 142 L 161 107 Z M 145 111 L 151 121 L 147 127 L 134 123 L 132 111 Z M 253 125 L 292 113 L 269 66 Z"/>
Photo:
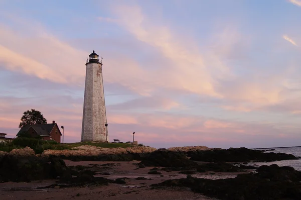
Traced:
<path id="1" fill-rule="evenodd" d="M 148 174 L 154 167 L 138 168 L 135 164 L 140 161 L 131 162 L 101 162 L 101 161 L 79 161 L 65 160 L 67 166 L 82 165 L 88 169 L 109 173 L 110 175 L 96 174 L 108 179 L 127 177 L 126 184 L 110 183 L 109 185 L 69 188 L 46 188 L 37 189 L 56 183 L 57 180 L 33 181 L 30 183 L 6 182 L 0 183 L 0 199 L 213 199 L 194 193 L 189 188 L 156 188 L 149 185 L 160 183 L 164 180 L 185 178 L 185 174 L 179 171 L 161 171 L 162 174 Z M 103 164 L 108 164 L 103 166 Z M 196 173 L 193 177 L 202 178 L 234 178 L 238 173 Z M 144 177 L 147 180 L 136 180 L 137 177 Z M 150 180 L 148 180 L 150 178 Z"/>

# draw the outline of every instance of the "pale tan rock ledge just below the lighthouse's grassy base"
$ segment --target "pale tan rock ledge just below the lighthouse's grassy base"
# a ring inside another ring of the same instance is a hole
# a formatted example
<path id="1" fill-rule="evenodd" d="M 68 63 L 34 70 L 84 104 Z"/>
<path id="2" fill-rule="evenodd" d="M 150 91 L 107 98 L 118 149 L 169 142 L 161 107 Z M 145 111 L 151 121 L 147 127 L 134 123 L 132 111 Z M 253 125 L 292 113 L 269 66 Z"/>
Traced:
<path id="1" fill-rule="evenodd" d="M 150 152 L 155 151 L 152 147 L 128 147 L 128 148 L 102 148 L 90 145 L 74 147 L 72 150 L 45 150 L 41 157 L 56 155 L 60 158 L 74 161 L 132 161 L 133 159 L 142 159 Z"/>

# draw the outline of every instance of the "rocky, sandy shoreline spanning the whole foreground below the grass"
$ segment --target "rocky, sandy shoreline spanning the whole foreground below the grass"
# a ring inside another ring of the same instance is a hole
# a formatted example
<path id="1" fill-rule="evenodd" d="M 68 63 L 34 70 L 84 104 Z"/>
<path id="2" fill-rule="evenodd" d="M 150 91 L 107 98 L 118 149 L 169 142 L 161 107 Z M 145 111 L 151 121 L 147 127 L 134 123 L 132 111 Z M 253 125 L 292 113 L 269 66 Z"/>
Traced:
<path id="1" fill-rule="evenodd" d="M 290 195 L 287 191 L 301 196 L 300 171 L 275 164 L 249 163 L 254 158 L 299 160 L 291 154 L 247 148 L 79 146 L 35 154 L 26 147 L 0 152 L 0 196 L 32 200 L 41 196 L 43 199 L 251 200 L 285 198 Z"/>

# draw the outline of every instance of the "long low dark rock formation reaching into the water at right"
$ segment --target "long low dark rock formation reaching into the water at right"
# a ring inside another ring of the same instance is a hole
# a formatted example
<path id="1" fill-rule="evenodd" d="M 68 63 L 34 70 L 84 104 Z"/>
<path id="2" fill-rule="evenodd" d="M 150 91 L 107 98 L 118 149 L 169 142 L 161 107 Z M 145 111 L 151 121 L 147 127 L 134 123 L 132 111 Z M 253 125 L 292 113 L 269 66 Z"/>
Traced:
<path id="1" fill-rule="evenodd" d="M 208 162 L 249 162 L 249 161 L 276 161 L 298 159 L 291 154 L 263 153 L 259 150 L 247 148 L 214 149 L 212 151 L 195 151 L 191 160 Z"/>

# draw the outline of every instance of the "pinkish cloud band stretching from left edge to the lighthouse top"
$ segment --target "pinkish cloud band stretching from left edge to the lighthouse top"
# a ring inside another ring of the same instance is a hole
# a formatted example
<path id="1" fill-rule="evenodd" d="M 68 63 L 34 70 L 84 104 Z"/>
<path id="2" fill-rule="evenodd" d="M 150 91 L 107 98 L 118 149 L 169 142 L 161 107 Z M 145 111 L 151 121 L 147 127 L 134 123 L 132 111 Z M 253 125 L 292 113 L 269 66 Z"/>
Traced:
<path id="1" fill-rule="evenodd" d="M 21 22 L 15 23 L 18 26 Z M 81 63 L 89 53 L 70 46 L 41 27 L 27 24 L 23 32 L 30 30 L 33 34 L 30 38 L 0 23 L 2 66 L 52 82 L 82 84 L 85 69 Z"/>

